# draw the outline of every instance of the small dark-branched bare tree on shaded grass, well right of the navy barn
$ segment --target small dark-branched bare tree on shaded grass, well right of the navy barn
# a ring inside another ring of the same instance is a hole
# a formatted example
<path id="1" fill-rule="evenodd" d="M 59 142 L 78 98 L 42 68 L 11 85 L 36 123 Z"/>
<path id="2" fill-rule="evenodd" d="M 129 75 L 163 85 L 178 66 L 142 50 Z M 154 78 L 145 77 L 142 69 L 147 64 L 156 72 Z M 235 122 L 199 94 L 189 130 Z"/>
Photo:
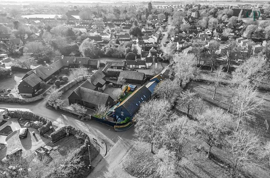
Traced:
<path id="1" fill-rule="evenodd" d="M 187 117 L 189 117 L 190 110 L 194 110 L 201 100 L 196 96 L 196 93 L 191 92 L 190 89 L 183 91 L 178 99 L 180 106 L 184 106 L 187 109 Z"/>

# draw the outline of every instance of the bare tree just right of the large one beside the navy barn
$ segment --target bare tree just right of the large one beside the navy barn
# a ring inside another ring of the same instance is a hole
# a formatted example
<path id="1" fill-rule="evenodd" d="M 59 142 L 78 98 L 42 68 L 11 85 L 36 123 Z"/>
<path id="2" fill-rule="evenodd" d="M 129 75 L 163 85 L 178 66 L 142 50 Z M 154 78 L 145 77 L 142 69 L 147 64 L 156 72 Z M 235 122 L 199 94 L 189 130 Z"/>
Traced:
<path id="1" fill-rule="evenodd" d="M 175 116 L 175 115 L 174 115 Z M 162 144 L 175 153 L 177 161 L 191 151 L 191 141 L 196 136 L 195 121 L 186 116 L 175 116 L 176 120 L 166 124 L 162 132 Z"/>

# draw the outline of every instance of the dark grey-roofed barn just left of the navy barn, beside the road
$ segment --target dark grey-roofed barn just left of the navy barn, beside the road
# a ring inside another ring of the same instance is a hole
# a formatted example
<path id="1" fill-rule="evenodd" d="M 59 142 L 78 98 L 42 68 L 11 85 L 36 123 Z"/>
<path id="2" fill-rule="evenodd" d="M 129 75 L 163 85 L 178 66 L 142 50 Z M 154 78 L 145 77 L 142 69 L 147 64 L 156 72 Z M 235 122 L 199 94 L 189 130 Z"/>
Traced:
<path id="1" fill-rule="evenodd" d="M 76 88 L 68 97 L 69 104 L 78 103 L 86 108 L 96 109 L 99 105 L 112 106 L 110 95 L 81 86 Z"/>

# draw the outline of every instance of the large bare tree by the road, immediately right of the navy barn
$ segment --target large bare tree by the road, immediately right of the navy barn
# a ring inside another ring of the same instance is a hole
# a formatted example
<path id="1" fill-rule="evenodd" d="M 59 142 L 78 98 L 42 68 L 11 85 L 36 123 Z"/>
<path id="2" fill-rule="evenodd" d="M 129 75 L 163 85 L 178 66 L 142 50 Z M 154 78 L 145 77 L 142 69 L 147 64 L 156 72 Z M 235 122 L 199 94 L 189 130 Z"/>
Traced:
<path id="1" fill-rule="evenodd" d="M 150 100 L 140 106 L 135 115 L 137 123 L 135 125 L 134 135 L 139 141 L 151 144 L 151 153 L 153 146 L 158 142 L 159 135 L 165 121 L 170 117 L 170 105 L 167 100 Z"/>

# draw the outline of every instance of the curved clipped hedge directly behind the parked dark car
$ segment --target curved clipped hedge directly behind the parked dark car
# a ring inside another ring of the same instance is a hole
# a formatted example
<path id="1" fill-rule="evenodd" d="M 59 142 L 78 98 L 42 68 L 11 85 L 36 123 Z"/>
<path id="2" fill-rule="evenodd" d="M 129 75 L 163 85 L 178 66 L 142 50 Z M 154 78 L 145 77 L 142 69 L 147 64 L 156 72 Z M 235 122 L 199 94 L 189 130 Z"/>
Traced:
<path id="1" fill-rule="evenodd" d="M 44 118 L 42 116 L 39 116 L 37 114 L 33 114 L 32 112 L 29 111 L 20 111 L 20 110 L 15 110 L 15 111 L 9 111 L 10 117 L 12 118 L 23 118 L 23 119 L 29 119 L 32 121 L 38 121 L 42 122 L 42 127 L 38 128 L 37 130 L 44 134 L 50 130 L 50 126 L 52 126 L 52 122 Z"/>

